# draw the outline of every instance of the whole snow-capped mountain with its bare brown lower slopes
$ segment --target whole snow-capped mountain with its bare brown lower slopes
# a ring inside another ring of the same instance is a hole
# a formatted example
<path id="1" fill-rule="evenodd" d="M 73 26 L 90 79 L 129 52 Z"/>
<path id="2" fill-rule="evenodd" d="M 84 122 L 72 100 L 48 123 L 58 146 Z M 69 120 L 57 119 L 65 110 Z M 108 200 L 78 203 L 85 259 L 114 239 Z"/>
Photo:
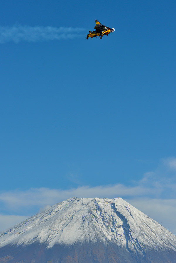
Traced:
<path id="1" fill-rule="evenodd" d="M 176 236 L 121 198 L 68 199 L 0 234 L 0 262 L 176 262 Z"/>

